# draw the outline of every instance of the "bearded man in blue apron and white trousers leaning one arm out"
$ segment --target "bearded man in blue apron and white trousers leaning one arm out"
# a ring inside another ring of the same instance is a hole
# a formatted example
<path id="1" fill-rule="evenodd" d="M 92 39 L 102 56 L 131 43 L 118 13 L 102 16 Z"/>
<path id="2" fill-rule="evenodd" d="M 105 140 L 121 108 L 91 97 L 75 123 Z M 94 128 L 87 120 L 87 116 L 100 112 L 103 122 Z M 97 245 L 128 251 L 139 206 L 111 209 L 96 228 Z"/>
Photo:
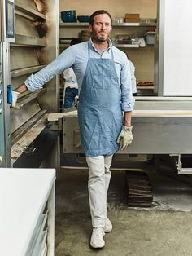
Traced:
<path id="1" fill-rule="evenodd" d="M 107 11 L 95 11 L 89 20 L 90 41 L 68 47 L 16 90 L 37 90 L 66 68 L 72 67 L 76 73 L 81 143 L 89 166 L 89 205 L 93 225 L 90 245 L 93 248 L 103 248 L 103 236 L 112 230 L 107 218 L 112 156 L 119 148 L 127 148 L 133 139 L 129 60 L 123 51 L 111 44 L 111 23 Z"/>

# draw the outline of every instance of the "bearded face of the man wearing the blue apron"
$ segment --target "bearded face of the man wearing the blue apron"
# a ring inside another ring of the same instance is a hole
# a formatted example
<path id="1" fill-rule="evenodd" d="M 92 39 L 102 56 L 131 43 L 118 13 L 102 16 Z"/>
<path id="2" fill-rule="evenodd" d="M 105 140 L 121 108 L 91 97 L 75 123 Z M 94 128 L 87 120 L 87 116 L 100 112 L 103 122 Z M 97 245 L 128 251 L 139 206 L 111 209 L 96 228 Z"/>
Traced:
<path id="1" fill-rule="evenodd" d="M 97 42 L 106 42 L 111 33 L 111 19 L 107 14 L 99 14 L 94 17 L 93 26 L 89 24 L 92 38 Z"/>

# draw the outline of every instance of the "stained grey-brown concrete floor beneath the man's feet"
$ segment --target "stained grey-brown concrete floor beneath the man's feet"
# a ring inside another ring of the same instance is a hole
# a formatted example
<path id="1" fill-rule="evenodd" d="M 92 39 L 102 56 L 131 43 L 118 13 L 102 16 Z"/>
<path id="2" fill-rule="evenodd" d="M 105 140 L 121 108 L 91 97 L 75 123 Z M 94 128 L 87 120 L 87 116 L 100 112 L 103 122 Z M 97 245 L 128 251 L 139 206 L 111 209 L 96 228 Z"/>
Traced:
<path id="1" fill-rule="evenodd" d="M 108 217 L 113 231 L 103 249 L 91 249 L 87 170 L 61 170 L 56 181 L 56 256 L 191 256 L 192 186 L 173 178 L 148 173 L 155 195 L 151 208 L 126 205 L 124 171 L 112 171 Z M 147 170 L 147 166 L 146 166 Z"/>

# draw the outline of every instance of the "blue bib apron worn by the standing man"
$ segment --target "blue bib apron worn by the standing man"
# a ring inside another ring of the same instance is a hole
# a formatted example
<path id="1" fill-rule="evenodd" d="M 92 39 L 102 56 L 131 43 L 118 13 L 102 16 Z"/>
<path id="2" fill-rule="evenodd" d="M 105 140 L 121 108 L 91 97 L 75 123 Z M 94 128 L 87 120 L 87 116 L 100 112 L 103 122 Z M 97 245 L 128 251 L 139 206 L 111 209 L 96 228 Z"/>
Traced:
<path id="1" fill-rule="evenodd" d="M 112 59 L 90 58 L 81 86 L 78 121 L 86 157 L 113 154 L 122 128 L 120 85 Z"/>

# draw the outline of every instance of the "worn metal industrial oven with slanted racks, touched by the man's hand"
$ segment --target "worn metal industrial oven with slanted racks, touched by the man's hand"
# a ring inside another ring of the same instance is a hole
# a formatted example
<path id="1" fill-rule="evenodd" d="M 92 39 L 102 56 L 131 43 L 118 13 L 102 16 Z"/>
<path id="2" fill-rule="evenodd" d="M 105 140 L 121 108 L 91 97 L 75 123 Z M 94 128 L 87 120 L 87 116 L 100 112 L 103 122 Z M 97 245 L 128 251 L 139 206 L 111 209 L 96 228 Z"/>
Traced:
<path id="1" fill-rule="evenodd" d="M 59 135 L 47 126 L 59 107 L 59 79 L 7 96 L 59 54 L 59 1 L 1 0 L 0 166 L 59 167 Z"/>

